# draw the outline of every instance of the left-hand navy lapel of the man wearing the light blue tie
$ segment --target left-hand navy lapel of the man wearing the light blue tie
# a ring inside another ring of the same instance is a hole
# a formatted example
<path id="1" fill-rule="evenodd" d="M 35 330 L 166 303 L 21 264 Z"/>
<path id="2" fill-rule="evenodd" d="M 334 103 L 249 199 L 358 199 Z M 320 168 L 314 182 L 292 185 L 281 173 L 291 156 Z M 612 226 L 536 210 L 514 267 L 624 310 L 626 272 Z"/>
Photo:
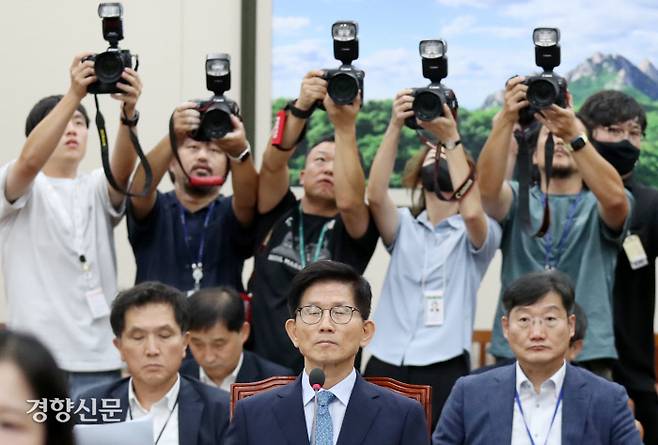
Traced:
<path id="1" fill-rule="evenodd" d="M 289 444 L 308 445 L 301 376 L 279 391 L 276 400 L 272 403 L 272 411 Z"/>

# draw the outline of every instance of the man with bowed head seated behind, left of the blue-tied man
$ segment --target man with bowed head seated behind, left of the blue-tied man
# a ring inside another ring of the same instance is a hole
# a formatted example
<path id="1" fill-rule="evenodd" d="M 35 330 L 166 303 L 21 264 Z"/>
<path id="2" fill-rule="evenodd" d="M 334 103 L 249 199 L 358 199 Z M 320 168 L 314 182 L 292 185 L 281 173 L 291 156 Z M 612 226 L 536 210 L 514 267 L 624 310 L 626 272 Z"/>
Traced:
<path id="1" fill-rule="evenodd" d="M 190 350 L 181 374 L 231 390 L 232 383 L 257 382 L 292 371 L 245 351 L 250 326 L 244 303 L 232 287 L 206 288 L 189 299 Z M 199 366 L 201 365 L 201 366 Z"/>

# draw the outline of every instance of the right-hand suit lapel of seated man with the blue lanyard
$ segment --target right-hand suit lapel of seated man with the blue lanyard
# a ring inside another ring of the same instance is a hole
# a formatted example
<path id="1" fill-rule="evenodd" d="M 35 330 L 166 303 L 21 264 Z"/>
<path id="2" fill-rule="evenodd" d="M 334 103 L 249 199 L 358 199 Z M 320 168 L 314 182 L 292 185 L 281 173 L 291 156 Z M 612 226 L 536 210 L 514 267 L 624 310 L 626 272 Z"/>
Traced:
<path id="1" fill-rule="evenodd" d="M 567 363 L 562 396 L 562 443 L 581 443 L 591 398 L 582 371 Z"/>

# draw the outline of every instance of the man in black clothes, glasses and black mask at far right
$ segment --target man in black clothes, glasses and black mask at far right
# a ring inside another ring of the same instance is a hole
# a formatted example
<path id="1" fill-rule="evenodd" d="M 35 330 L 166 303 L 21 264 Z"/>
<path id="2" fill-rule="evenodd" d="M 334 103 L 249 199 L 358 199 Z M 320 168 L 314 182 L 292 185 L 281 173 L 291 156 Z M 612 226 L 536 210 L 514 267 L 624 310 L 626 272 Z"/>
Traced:
<path id="1" fill-rule="evenodd" d="M 635 99 L 605 90 L 590 96 L 578 113 L 590 139 L 624 180 L 635 199 L 630 226 L 617 257 L 613 287 L 615 344 L 619 361 L 613 378 L 635 402 L 635 415 L 645 426 L 644 441 L 658 444 L 658 394 L 654 365 L 653 318 L 656 308 L 658 256 L 658 190 L 633 174 L 647 117 Z"/>

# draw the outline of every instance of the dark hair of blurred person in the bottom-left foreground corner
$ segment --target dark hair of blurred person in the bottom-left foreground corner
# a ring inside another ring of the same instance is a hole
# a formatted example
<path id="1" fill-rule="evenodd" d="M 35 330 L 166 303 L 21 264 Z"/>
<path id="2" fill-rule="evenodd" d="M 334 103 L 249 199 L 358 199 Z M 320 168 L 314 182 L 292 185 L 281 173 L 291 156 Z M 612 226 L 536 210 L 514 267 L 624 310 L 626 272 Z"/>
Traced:
<path id="1" fill-rule="evenodd" d="M 34 394 L 34 399 L 65 400 L 68 380 L 46 347 L 31 334 L 0 330 L 0 362 L 16 365 Z M 48 415 L 46 445 L 73 445 L 73 420 L 60 422 Z"/>

